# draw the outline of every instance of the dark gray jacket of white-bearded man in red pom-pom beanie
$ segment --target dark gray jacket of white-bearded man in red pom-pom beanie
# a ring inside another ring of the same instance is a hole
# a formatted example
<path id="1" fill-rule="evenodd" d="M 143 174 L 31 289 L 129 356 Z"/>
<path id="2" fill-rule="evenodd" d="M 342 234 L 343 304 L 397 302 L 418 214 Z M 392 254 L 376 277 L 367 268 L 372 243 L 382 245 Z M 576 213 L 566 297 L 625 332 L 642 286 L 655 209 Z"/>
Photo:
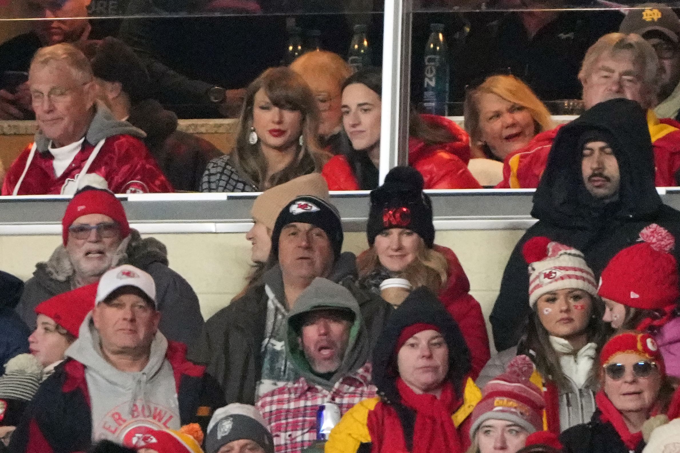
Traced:
<path id="1" fill-rule="evenodd" d="M 191 285 L 168 267 L 167 249 L 154 238 L 142 239 L 130 230 L 116 250 L 113 267 L 121 264 L 148 272 L 156 283 L 156 300 L 161 313 L 159 329 L 169 340 L 192 346 L 203 329 L 199 298 Z M 63 245 L 54 250 L 47 261 L 35 265 L 35 272 L 24 286 L 16 306 L 21 319 L 35 330 L 35 307 L 57 294 L 75 289 L 73 265 Z"/>

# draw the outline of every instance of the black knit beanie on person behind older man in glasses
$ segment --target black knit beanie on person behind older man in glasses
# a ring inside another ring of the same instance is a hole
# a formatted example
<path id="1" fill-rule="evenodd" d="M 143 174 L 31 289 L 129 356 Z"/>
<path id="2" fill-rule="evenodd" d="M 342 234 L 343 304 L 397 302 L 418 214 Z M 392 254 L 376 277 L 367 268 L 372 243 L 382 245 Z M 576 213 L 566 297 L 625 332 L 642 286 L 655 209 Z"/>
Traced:
<path id="1" fill-rule="evenodd" d="M 133 105 L 149 97 L 149 73 L 135 52 L 120 39 L 102 39 L 91 63 L 95 77 L 120 82 Z"/>

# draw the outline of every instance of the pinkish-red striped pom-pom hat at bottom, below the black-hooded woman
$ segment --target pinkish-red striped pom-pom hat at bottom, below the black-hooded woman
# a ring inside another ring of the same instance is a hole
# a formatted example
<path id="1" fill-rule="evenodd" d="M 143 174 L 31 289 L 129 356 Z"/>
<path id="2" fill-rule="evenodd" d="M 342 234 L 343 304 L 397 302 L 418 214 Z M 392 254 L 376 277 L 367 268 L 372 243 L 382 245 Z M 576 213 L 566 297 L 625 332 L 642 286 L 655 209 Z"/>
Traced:
<path id="1" fill-rule="evenodd" d="M 506 420 L 528 433 L 543 430 L 543 391 L 529 379 L 534 363 L 526 355 L 518 355 L 500 374 L 484 386 L 482 398 L 472 412 L 470 438 L 486 420 Z"/>

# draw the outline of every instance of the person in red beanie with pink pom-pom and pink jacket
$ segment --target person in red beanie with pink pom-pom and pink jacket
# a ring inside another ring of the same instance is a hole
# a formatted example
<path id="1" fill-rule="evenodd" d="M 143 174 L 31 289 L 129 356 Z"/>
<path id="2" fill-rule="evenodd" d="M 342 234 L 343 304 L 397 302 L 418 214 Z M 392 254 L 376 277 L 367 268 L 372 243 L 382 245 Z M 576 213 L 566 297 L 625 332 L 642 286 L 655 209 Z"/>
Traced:
<path id="1" fill-rule="evenodd" d="M 669 376 L 680 377 L 680 299 L 677 261 L 670 251 L 675 238 L 652 223 L 638 242 L 617 253 L 605 270 L 598 294 L 602 318 L 619 331 L 649 333 L 659 345 Z"/>

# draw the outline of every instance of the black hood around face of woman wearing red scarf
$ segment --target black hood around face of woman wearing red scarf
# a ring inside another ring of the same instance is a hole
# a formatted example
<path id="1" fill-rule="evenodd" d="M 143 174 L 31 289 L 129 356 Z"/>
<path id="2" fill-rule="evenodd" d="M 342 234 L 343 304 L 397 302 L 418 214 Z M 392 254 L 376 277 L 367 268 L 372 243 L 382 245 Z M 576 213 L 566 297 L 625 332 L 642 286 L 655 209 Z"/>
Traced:
<path id="1" fill-rule="evenodd" d="M 471 370 L 470 350 L 458 323 L 427 287 L 413 290 L 392 312 L 373 348 L 373 382 L 378 393 L 392 402 L 400 401 L 396 388 L 396 352 L 401 332 L 414 324 L 435 325 L 449 348 L 449 374 L 456 394 L 462 395 L 465 379 Z"/>

